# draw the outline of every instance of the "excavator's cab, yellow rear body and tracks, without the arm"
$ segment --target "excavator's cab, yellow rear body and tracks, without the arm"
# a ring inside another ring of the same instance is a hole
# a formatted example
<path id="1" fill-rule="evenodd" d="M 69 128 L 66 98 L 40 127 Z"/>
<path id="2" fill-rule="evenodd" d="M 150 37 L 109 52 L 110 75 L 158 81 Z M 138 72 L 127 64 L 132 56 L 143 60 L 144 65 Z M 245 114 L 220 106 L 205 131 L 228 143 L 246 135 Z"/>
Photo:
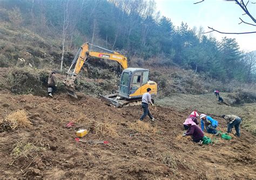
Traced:
<path id="1" fill-rule="evenodd" d="M 147 88 L 151 88 L 152 97 L 157 94 L 157 83 L 149 80 L 149 70 L 126 68 L 120 78 L 119 93 L 100 96 L 115 107 L 134 106 L 141 103 Z"/>

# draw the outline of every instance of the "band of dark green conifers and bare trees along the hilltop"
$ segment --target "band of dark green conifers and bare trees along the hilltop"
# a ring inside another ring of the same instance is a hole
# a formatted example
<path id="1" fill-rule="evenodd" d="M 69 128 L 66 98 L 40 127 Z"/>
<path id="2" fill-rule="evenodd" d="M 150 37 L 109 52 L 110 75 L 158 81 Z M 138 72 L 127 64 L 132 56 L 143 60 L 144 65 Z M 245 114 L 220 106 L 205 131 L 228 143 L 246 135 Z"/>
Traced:
<path id="1" fill-rule="evenodd" d="M 201 27 L 174 26 L 156 11 L 154 0 L 12 0 L 1 6 L 10 21 L 59 37 L 62 59 L 65 51 L 89 41 L 131 58 L 155 57 L 158 66 L 180 66 L 223 81 L 256 80 L 255 52 L 242 52 L 232 38 L 206 36 Z"/>

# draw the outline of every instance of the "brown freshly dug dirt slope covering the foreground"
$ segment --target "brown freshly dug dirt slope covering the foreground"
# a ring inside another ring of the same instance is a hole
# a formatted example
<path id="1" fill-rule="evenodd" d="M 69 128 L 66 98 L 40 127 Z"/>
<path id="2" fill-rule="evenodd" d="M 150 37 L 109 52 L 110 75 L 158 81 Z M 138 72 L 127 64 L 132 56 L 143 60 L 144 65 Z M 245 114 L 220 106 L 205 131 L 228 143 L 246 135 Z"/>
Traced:
<path id="1" fill-rule="evenodd" d="M 241 129 L 240 138 L 218 138 L 215 144 L 199 146 L 180 136 L 190 113 L 187 110 L 155 107 L 152 114 L 156 122 L 146 119 L 137 124 L 142 113 L 138 106 L 114 108 L 85 95 L 72 100 L 64 94 L 49 99 L 6 92 L 0 94 L 0 107 L 0 119 L 25 109 L 33 124 L 0 133 L 2 178 L 256 178 L 254 136 Z M 224 121 L 215 118 L 224 130 Z M 75 127 L 66 128 L 69 121 L 76 121 Z M 100 134 L 97 129 L 104 130 L 100 123 L 109 124 L 117 134 Z M 76 142 L 79 128 L 90 130 L 83 140 L 106 140 L 109 144 Z M 11 153 L 17 142 L 45 150 L 15 158 Z"/>

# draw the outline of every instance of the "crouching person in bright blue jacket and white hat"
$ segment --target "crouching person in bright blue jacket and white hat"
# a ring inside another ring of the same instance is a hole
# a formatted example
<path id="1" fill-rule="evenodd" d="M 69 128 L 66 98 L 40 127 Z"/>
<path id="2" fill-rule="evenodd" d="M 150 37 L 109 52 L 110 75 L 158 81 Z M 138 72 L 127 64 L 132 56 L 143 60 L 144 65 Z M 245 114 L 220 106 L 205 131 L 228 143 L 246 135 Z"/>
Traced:
<path id="1" fill-rule="evenodd" d="M 204 126 L 207 130 L 207 133 L 218 135 L 218 130 L 216 130 L 218 126 L 218 121 L 212 119 L 212 117 L 207 116 L 206 114 L 200 115 L 201 120 L 201 129 L 204 130 Z"/>

